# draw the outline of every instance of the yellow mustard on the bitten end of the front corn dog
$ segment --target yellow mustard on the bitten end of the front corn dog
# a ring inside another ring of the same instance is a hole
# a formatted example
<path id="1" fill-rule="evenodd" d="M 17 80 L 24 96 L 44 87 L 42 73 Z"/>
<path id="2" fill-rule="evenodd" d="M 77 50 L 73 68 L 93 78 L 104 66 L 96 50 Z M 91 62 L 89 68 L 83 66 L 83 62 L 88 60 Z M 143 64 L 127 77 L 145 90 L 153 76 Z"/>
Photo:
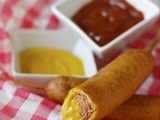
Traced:
<path id="1" fill-rule="evenodd" d="M 70 92 L 62 106 L 64 120 L 81 120 L 81 107 L 74 93 Z"/>

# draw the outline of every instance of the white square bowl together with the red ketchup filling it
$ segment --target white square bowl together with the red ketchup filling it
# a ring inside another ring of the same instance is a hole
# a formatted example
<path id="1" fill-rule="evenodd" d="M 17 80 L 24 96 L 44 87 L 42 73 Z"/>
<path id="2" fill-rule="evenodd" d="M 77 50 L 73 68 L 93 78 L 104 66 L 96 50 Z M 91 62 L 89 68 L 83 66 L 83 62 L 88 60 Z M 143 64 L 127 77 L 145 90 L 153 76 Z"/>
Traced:
<path id="1" fill-rule="evenodd" d="M 149 0 L 61 0 L 52 11 L 100 57 L 133 42 L 159 16 Z"/>

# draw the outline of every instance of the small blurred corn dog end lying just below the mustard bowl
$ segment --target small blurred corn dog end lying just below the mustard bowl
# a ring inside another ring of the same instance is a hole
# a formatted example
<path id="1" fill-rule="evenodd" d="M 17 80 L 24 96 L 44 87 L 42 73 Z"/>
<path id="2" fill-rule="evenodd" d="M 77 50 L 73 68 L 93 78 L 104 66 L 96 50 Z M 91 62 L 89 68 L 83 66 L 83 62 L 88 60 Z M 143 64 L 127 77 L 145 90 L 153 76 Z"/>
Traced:
<path id="1" fill-rule="evenodd" d="M 49 81 L 44 90 L 49 99 L 63 104 L 70 89 L 82 84 L 86 79 L 60 76 Z"/>

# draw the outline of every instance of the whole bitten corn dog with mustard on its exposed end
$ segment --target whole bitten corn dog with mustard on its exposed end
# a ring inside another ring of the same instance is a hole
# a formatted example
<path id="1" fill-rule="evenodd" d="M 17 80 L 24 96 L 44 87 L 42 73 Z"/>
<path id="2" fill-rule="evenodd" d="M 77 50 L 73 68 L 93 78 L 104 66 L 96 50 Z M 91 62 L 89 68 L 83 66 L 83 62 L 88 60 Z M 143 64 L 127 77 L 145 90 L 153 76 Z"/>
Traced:
<path id="1" fill-rule="evenodd" d="M 64 120 L 99 120 L 125 102 L 152 71 L 152 48 L 153 45 L 123 53 L 73 88 L 62 106 Z"/>

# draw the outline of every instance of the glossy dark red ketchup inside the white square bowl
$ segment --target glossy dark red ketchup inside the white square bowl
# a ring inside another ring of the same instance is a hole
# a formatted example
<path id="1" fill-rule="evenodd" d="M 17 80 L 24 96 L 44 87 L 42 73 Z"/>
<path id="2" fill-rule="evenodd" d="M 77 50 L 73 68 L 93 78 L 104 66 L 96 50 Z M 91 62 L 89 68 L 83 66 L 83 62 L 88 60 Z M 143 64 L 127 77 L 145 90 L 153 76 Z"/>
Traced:
<path id="1" fill-rule="evenodd" d="M 142 12 L 125 0 L 92 0 L 73 16 L 73 21 L 99 46 L 143 19 Z"/>

